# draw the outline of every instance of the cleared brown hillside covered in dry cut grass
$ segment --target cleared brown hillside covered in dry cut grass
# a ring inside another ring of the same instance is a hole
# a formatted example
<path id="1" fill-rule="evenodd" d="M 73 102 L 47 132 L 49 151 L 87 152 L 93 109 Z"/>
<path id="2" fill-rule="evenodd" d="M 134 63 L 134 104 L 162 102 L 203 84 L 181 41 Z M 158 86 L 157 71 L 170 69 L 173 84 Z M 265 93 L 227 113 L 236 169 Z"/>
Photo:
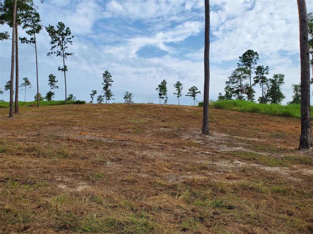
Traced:
<path id="1" fill-rule="evenodd" d="M 1 109 L 1 233 L 312 233 L 300 120 L 110 104 Z"/>

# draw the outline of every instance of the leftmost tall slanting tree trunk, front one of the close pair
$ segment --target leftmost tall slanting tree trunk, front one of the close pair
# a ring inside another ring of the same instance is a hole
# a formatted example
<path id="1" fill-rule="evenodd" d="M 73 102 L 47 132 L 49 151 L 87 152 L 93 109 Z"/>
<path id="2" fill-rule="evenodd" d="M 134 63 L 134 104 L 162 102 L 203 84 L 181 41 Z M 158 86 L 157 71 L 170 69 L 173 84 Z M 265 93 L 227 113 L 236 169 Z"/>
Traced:
<path id="1" fill-rule="evenodd" d="M 11 54 L 11 79 L 10 79 L 10 111 L 9 118 L 13 117 L 13 81 L 14 81 L 14 49 L 15 49 L 15 18 L 16 18 L 16 2 L 14 0 L 13 7 L 13 25 L 12 25 L 12 54 Z"/>

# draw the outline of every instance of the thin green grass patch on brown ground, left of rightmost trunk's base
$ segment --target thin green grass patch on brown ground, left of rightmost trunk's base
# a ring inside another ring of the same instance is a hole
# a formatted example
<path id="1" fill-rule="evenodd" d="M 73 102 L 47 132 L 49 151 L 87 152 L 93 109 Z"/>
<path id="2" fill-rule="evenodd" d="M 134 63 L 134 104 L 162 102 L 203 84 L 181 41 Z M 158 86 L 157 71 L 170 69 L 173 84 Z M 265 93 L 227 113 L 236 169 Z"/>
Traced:
<path id="1" fill-rule="evenodd" d="M 246 151 L 231 151 L 229 154 L 242 158 L 244 160 L 255 161 L 258 163 L 262 163 L 267 166 L 288 166 L 288 163 L 285 160 L 280 158 L 270 158 L 268 156 L 254 153 L 254 152 L 246 152 Z"/>

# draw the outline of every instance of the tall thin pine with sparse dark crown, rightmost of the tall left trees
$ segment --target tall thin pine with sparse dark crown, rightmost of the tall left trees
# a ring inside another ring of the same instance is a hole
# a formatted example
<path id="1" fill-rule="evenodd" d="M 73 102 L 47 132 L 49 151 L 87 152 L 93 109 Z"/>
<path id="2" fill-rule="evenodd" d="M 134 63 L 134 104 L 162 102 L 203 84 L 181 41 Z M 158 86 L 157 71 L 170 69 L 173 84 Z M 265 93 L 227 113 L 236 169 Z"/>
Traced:
<path id="1" fill-rule="evenodd" d="M 59 67 L 58 70 L 64 72 L 64 82 L 65 82 L 65 104 L 67 99 L 67 93 L 66 93 L 66 74 L 67 66 L 65 65 L 65 59 L 67 56 L 71 56 L 74 53 L 66 52 L 66 49 L 68 48 L 67 44 L 72 45 L 72 39 L 74 36 L 71 36 L 71 30 L 69 27 L 65 27 L 64 23 L 58 22 L 57 28 L 55 29 L 54 26 L 49 25 L 46 27 L 47 32 L 49 33 L 49 36 L 51 37 L 51 52 L 49 52 L 47 55 L 50 56 L 52 54 L 56 54 L 56 56 L 62 56 L 63 58 L 63 68 Z M 54 51 L 54 49 L 57 48 L 57 51 Z"/>

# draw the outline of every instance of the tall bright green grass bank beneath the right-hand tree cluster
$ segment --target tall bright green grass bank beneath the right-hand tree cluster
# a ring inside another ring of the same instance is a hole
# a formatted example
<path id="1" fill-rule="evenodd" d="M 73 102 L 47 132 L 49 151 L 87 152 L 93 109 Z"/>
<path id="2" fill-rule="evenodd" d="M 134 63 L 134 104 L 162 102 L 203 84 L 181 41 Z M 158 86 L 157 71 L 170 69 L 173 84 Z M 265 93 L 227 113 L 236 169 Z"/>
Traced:
<path id="1" fill-rule="evenodd" d="M 265 115 L 301 118 L 300 105 L 260 104 L 243 100 L 223 100 L 212 103 L 217 109 L 254 112 Z M 311 108 L 311 119 L 313 119 Z"/>

